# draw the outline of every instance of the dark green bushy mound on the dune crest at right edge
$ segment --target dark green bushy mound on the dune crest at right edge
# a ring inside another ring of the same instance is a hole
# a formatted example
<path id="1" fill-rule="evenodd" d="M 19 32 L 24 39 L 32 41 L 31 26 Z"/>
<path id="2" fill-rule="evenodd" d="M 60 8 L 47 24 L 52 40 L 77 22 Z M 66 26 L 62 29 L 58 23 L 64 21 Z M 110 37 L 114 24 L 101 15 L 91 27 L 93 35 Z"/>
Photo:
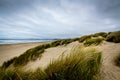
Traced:
<path id="1" fill-rule="evenodd" d="M 108 36 L 106 37 L 106 41 L 119 43 L 120 42 L 120 31 L 109 32 Z"/>

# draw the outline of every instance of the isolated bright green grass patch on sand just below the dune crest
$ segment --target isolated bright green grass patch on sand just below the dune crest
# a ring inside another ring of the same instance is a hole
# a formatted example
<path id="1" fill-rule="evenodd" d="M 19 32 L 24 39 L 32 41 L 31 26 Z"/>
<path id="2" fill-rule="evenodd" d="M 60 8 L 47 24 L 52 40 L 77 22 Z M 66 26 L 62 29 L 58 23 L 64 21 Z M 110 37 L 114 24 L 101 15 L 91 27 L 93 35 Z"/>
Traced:
<path id="1" fill-rule="evenodd" d="M 99 45 L 102 41 L 104 40 L 104 38 L 90 38 L 85 40 L 84 45 L 85 46 L 90 46 L 90 45 Z"/>

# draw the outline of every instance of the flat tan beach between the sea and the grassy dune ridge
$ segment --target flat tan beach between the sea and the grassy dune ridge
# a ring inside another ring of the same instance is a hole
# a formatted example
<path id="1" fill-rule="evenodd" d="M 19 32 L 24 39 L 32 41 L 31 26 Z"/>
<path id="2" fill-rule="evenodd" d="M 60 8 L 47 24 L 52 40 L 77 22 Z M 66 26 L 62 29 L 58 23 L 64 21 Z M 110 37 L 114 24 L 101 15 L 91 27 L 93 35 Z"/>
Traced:
<path id="1" fill-rule="evenodd" d="M 0 66 L 4 61 L 7 61 L 15 56 L 19 56 L 26 50 L 35 47 L 37 45 L 46 44 L 50 42 L 38 42 L 38 43 L 21 43 L 21 44 L 6 44 L 0 45 Z"/>

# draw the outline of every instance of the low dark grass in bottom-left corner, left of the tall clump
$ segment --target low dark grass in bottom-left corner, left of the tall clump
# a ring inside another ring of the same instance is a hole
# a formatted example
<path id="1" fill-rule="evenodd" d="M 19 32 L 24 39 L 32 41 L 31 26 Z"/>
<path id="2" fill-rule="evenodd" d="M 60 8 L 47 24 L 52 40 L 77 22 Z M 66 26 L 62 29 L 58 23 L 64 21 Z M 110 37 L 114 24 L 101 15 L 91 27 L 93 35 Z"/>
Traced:
<path id="1" fill-rule="evenodd" d="M 46 80 L 47 78 L 47 74 L 41 69 L 35 71 L 0 69 L 0 80 Z"/>

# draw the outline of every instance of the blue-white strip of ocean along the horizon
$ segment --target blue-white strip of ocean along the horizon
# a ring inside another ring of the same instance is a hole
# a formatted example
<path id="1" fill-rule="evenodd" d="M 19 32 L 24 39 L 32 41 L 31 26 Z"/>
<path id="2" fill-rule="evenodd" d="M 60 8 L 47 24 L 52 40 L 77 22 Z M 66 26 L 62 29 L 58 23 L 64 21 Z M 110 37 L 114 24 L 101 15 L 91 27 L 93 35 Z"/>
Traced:
<path id="1" fill-rule="evenodd" d="M 0 44 L 17 44 L 17 43 L 30 43 L 30 42 L 46 42 L 52 39 L 0 39 Z"/>

